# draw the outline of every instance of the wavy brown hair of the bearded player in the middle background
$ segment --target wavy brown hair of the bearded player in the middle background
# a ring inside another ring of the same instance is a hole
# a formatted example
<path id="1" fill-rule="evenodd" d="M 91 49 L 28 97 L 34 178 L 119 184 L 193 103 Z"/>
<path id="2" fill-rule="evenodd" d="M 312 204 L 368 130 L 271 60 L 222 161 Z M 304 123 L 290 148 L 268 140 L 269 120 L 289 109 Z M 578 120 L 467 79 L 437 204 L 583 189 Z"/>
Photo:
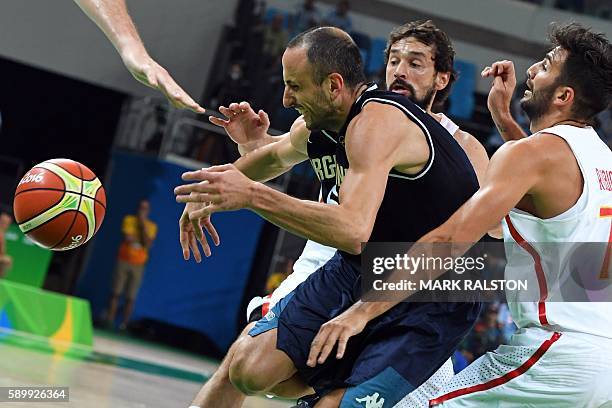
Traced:
<path id="1" fill-rule="evenodd" d="M 448 35 L 440 30 L 431 20 L 411 21 L 399 27 L 396 27 L 387 41 L 385 49 L 385 65 L 389 62 L 389 52 L 391 46 L 403 38 L 413 37 L 419 42 L 430 46 L 434 51 L 434 67 L 436 72 L 449 72 L 450 79 L 446 88 L 438 91 L 434 98 L 434 106 L 440 106 L 444 103 L 450 94 L 453 83 L 457 80 L 457 71 L 453 67 L 455 61 L 455 49 L 448 38 Z"/>

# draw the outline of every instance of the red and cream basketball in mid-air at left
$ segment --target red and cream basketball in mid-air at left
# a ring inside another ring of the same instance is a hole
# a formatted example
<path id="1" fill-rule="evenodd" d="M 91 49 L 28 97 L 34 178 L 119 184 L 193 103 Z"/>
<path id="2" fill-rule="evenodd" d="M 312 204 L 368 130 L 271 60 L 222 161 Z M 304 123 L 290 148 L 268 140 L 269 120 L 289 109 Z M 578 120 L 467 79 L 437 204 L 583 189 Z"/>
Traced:
<path id="1" fill-rule="evenodd" d="M 47 160 L 22 177 L 13 211 L 28 238 L 43 248 L 66 251 L 83 245 L 98 231 L 106 194 L 98 177 L 83 164 Z"/>

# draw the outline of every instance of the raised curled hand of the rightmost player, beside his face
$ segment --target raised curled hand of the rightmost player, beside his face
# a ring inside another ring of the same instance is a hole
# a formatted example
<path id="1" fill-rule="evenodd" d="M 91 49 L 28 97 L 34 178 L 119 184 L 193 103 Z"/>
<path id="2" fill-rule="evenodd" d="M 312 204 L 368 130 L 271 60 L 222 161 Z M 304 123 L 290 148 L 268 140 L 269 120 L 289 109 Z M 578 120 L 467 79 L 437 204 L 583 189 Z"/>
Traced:
<path id="1" fill-rule="evenodd" d="M 516 73 L 512 61 L 497 61 L 490 67 L 485 67 L 481 73 L 483 78 L 493 78 L 487 107 L 492 115 L 509 114 L 510 102 L 516 88 Z"/>

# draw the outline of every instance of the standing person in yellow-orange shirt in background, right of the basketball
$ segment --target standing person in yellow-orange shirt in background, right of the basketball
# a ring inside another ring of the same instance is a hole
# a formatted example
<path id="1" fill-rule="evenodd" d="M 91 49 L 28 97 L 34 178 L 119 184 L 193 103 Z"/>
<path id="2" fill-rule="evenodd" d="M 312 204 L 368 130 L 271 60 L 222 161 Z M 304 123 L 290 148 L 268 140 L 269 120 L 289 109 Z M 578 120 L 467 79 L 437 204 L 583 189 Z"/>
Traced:
<path id="1" fill-rule="evenodd" d="M 119 298 L 125 293 L 123 320 L 119 328 L 125 330 L 132 315 L 134 300 L 142 282 L 149 249 L 157 235 L 157 225 L 149 219 L 151 210 L 148 200 L 141 200 L 136 215 L 123 218 L 121 232 L 123 241 L 119 246 L 117 266 L 113 275 L 113 287 L 108 307 L 107 324 L 112 327 L 117 315 Z"/>

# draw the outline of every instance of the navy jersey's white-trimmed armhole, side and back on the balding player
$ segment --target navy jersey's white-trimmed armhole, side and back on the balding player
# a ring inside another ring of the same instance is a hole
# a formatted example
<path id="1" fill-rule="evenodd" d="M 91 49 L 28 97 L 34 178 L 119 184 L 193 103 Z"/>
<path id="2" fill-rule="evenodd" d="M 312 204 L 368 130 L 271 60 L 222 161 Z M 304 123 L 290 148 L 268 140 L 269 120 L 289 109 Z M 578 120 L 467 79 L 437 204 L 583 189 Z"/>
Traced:
<path id="1" fill-rule="evenodd" d="M 461 146 L 427 112 L 403 95 L 370 87 L 355 101 L 339 132 L 338 188 L 349 166 L 343 143 L 346 129 L 368 103 L 383 103 L 399 109 L 421 128 L 429 145 L 429 159 L 419 173 L 389 172 L 385 195 L 370 236 L 371 242 L 415 242 L 443 224 L 478 190 L 476 173 Z M 342 255 L 359 264 L 359 256 L 345 252 Z"/>

